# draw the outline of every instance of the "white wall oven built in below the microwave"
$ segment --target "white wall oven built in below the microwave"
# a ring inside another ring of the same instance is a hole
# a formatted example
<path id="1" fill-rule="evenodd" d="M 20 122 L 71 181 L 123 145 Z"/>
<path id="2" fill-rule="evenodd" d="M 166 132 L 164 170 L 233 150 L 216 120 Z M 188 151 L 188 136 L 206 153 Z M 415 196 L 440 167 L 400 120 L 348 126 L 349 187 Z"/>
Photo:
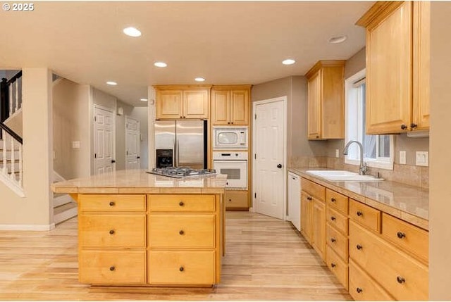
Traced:
<path id="1" fill-rule="evenodd" d="M 214 151 L 213 168 L 227 175 L 227 189 L 247 189 L 247 151 Z"/>

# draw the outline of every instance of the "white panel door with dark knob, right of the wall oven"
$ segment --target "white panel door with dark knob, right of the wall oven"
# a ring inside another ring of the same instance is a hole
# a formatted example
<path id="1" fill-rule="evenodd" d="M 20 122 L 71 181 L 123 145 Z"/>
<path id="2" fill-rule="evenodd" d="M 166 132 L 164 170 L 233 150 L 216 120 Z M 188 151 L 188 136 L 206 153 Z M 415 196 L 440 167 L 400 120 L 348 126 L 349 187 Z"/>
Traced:
<path id="1" fill-rule="evenodd" d="M 255 106 L 255 195 L 257 213 L 283 219 L 284 112 L 283 101 Z"/>

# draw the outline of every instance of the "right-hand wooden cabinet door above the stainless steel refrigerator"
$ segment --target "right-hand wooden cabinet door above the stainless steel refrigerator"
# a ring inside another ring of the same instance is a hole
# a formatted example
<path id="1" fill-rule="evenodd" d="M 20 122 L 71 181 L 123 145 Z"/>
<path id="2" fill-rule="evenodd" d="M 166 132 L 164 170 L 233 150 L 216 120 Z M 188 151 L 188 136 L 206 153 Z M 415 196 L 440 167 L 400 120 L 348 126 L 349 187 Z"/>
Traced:
<path id="1" fill-rule="evenodd" d="M 209 118 L 208 89 L 183 92 L 183 118 Z"/>

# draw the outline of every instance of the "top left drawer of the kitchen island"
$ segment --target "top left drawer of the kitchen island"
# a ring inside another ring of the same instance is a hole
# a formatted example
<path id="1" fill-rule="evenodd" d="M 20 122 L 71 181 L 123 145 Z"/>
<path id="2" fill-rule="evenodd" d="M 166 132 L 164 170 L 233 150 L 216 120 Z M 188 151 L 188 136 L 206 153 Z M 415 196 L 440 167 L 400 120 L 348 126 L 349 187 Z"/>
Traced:
<path id="1" fill-rule="evenodd" d="M 146 196 L 80 194 L 78 208 L 80 211 L 144 212 L 146 210 Z"/>

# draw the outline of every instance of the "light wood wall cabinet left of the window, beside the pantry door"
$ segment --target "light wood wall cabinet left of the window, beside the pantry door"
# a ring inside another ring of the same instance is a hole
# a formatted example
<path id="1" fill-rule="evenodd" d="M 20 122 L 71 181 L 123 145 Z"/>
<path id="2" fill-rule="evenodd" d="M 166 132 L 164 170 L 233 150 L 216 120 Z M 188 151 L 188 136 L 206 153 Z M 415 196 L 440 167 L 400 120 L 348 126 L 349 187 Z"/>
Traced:
<path id="1" fill-rule="evenodd" d="M 344 137 L 343 82 L 345 61 L 319 61 L 307 77 L 309 139 Z"/>

